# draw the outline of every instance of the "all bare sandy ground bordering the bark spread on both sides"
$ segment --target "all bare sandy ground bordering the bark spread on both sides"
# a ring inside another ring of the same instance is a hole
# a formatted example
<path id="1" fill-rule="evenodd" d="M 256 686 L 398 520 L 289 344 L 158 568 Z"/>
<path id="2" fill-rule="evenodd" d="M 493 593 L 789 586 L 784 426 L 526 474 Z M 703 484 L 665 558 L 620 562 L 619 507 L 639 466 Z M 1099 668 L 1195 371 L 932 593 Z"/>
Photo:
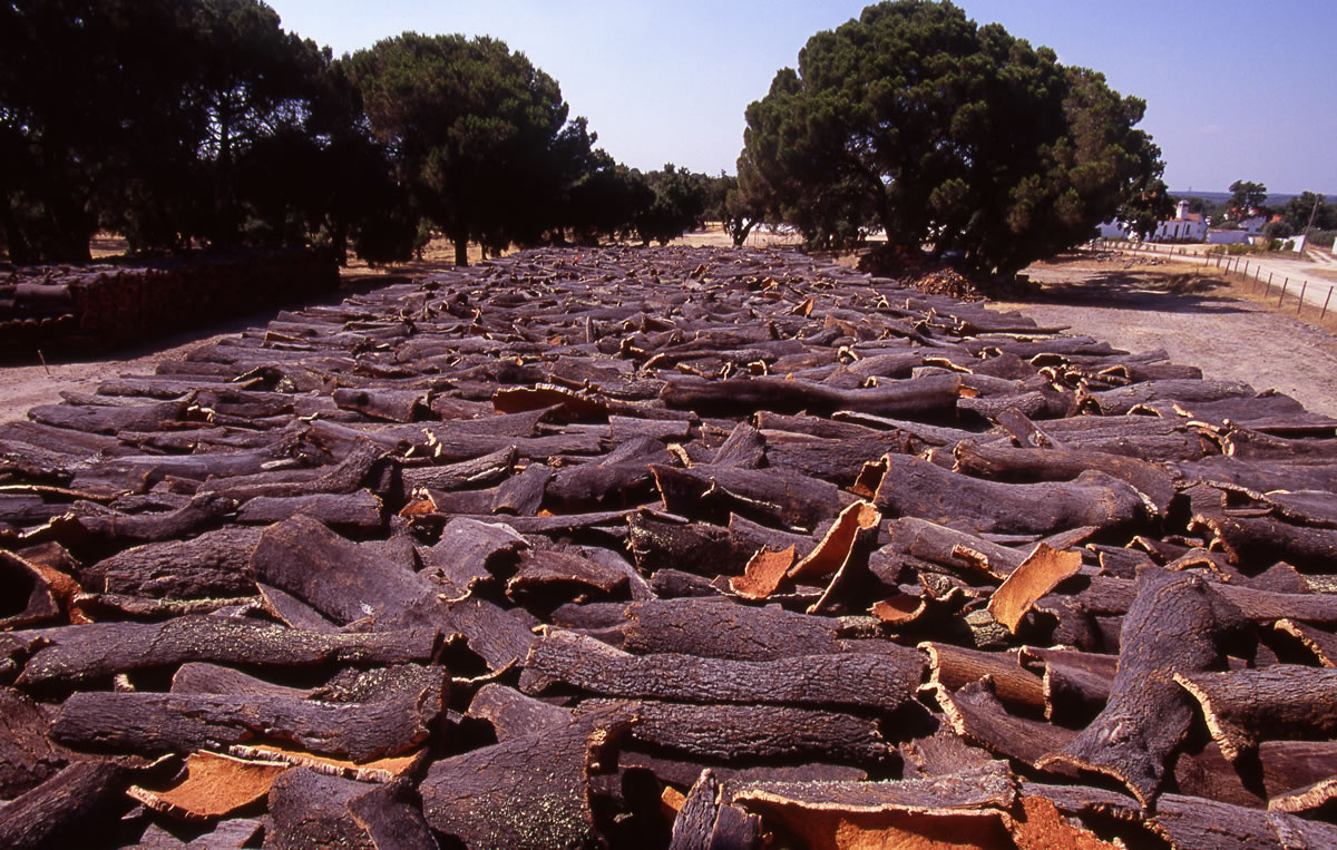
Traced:
<path id="1" fill-rule="evenodd" d="M 718 231 L 690 234 L 683 242 L 729 245 Z M 757 242 L 787 239 L 762 234 Z M 422 261 L 405 266 L 353 266 L 345 270 L 340 293 L 329 299 L 449 265 L 449 247 L 433 245 Z M 1189 266 L 1128 265 L 1123 259 L 1067 258 L 1040 263 L 1029 273 L 1046 285 L 1042 297 L 993 307 L 1020 310 L 1042 325 L 1068 325 L 1074 333 L 1132 351 L 1166 349 L 1173 361 L 1201 366 L 1207 377 L 1247 381 L 1258 390 L 1277 389 L 1310 410 L 1337 416 L 1337 339 L 1289 315 L 1231 297 L 1246 294 L 1239 287 L 1231 290 Z M 24 418 L 36 405 L 57 404 L 63 392 L 92 393 L 100 382 L 122 374 L 151 374 L 164 360 L 247 327 L 262 327 L 277 313 L 277 307 L 257 311 L 112 356 L 48 360 L 45 366 L 0 366 L 0 421 Z"/>

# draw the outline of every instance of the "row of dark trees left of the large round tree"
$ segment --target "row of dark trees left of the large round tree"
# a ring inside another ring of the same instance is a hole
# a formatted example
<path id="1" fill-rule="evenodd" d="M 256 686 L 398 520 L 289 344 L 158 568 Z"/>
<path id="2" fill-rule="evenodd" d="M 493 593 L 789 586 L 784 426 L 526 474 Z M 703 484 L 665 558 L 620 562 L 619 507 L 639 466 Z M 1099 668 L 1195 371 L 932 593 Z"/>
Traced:
<path id="1" fill-rule="evenodd" d="M 493 39 L 406 32 L 352 56 L 258 0 L 0 4 L 0 249 L 88 259 L 318 245 L 408 259 L 699 226 L 722 178 L 595 147 L 558 82 Z M 718 192 L 717 192 L 718 194 Z"/>

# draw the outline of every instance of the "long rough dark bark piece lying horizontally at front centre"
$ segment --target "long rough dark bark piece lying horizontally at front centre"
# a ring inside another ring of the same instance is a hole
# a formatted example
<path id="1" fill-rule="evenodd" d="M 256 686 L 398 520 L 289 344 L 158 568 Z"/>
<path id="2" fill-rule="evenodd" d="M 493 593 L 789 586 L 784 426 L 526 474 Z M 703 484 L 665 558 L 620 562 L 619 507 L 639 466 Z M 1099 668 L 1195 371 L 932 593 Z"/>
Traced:
<path id="1" fill-rule="evenodd" d="M 604 696 L 693 703 L 844 706 L 893 711 L 912 699 L 924 672 L 912 650 L 804 655 L 771 662 L 695 655 L 630 655 L 567 631 L 535 642 L 525 672 Z M 521 690 L 525 682 L 521 679 Z"/>

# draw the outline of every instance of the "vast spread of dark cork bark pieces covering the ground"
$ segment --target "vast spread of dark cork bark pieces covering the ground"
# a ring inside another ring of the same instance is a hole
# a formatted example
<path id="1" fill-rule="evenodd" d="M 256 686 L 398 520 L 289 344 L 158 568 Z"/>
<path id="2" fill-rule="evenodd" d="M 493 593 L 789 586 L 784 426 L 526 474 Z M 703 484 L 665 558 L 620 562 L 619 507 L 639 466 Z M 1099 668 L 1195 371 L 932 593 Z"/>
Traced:
<path id="1" fill-rule="evenodd" d="M 550 250 L 35 408 L 0 843 L 1334 846 L 1337 422 L 1060 330 Z"/>

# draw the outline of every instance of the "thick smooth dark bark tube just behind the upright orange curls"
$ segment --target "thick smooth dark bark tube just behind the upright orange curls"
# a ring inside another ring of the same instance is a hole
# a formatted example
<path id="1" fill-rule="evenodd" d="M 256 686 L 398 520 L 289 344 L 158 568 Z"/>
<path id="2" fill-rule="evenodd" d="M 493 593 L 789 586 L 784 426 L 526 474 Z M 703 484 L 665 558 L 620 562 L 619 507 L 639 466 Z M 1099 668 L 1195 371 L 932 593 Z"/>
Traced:
<path id="1" fill-rule="evenodd" d="M 905 454 L 888 454 L 873 503 L 894 516 L 952 523 L 976 533 L 1048 535 L 1080 525 L 1130 528 L 1142 512 L 1135 489 L 1100 472 L 1072 482 L 997 484 L 948 472 Z"/>

